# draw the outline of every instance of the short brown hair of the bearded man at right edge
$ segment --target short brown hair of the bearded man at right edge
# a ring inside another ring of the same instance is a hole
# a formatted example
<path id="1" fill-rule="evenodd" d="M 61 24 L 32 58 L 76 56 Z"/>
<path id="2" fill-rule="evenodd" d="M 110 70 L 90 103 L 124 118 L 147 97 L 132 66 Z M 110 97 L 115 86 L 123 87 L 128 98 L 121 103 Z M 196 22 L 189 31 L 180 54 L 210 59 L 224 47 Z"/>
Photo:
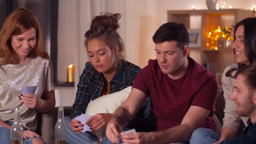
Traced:
<path id="1" fill-rule="evenodd" d="M 242 68 L 237 70 L 236 77 L 237 75 L 243 75 L 247 86 L 251 89 L 256 89 L 256 63 L 244 65 Z"/>

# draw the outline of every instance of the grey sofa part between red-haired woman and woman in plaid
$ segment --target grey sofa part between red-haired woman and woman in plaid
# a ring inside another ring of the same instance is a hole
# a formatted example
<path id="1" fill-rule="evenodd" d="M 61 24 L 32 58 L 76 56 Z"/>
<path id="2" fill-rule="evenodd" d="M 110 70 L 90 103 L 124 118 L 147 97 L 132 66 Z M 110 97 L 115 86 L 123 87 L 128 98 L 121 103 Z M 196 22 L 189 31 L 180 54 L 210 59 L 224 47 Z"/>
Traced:
<path id="1" fill-rule="evenodd" d="M 71 107 L 64 107 L 64 116 L 69 116 Z M 36 133 L 43 137 L 46 144 L 54 144 L 54 129 L 58 118 L 58 107 L 48 113 L 38 113 Z"/>

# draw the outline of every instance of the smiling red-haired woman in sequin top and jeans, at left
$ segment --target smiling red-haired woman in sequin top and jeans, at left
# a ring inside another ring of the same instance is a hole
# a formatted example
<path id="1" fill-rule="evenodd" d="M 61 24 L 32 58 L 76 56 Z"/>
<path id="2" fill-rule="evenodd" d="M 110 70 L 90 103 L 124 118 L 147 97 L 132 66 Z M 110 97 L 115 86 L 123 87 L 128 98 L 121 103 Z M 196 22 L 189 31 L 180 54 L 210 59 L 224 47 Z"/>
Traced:
<path id="1" fill-rule="evenodd" d="M 0 144 L 10 144 L 14 110 L 20 108 L 24 144 L 45 144 L 36 134 L 37 113 L 55 106 L 53 66 L 42 52 L 42 33 L 36 16 L 23 8 L 13 11 L 0 32 Z M 35 94 L 22 87 L 37 86 Z"/>

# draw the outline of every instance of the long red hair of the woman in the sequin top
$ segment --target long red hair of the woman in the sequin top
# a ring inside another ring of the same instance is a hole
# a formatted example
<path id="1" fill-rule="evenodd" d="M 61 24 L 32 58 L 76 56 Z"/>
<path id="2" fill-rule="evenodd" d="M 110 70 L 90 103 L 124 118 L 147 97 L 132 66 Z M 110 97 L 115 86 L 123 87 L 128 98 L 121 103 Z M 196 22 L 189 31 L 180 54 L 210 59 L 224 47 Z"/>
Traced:
<path id="1" fill-rule="evenodd" d="M 43 37 L 41 27 L 36 16 L 27 9 L 20 8 L 13 11 L 3 23 L 0 31 L 0 65 L 10 63 L 11 60 L 11 38 L 26 32 L 28 29 L 36 29 L 36 46 L 30 52 L 34 56 L 40 56 L 43 59 L 48 57 L 46 52 L 42 52 Z"/>

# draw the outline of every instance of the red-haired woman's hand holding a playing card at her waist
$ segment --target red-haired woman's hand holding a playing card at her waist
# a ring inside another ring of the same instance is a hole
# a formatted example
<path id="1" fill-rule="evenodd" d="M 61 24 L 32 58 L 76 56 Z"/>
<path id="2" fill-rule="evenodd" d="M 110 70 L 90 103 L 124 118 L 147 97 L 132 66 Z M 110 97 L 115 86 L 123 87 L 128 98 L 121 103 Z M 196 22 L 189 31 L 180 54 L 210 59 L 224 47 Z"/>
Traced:
<path id="1" fill-rule="evenodd" d="M 38 98 L 36 95 L 31 94 L 20 94 L 20 100 L 29 108 L 35 109 L 37 108 Z"/>

